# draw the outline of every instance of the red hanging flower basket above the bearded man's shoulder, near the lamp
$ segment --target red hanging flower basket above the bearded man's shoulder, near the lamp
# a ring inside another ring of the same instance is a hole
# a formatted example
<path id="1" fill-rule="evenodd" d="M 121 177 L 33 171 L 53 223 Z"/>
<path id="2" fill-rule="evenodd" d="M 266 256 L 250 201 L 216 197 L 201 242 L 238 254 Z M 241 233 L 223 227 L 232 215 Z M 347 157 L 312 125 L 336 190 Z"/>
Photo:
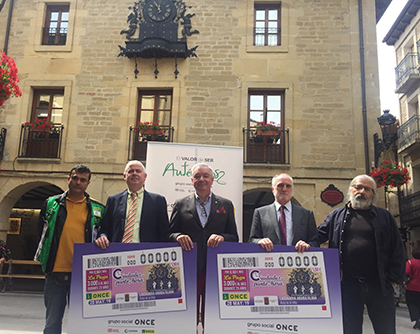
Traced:
<path id="1" fill-rule="evenodd" d="M 407 168 L 391 160 L 384 160 L 369 175 L 375 180 L 378 188 L 382 186 L 401 187 L 411 179 Z"/>

